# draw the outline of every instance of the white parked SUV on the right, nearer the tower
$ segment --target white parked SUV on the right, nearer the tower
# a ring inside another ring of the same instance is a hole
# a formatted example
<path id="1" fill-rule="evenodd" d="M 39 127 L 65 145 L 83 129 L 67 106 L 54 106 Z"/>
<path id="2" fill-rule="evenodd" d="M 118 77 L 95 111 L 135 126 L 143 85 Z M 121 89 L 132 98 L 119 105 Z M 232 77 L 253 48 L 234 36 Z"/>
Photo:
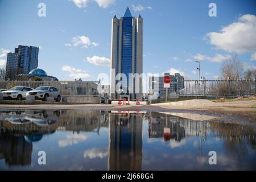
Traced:
<path id="1" fill-rule="evenodd" d="M 35 96 L 36 100 L 47 101 L 48 97 L 54 97 L 54 100 L 60 102 L 60 91 L 54 86 L 39 86 L 35 90 L 27 93 L 27 95 Z"/>

